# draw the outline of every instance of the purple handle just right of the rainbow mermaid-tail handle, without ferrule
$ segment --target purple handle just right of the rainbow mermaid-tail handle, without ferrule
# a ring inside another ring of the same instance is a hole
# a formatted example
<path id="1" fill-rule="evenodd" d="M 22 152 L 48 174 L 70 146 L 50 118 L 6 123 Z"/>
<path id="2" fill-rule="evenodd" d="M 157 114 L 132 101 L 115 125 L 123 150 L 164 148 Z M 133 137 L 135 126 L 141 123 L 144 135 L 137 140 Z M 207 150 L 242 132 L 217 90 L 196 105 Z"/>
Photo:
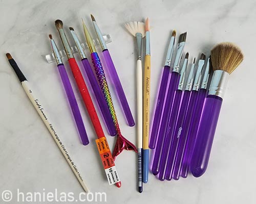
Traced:
<path id="1" fill-rule="evenodd" d="M 112 81 L 113 81 L 113 83 L 116 87 L 117 95 L 119 97 L 121 106 L 123 108 L 123 112 L 125 114 L 126 120 L 129 124 L 129 126 L 132 127 L 132 126 L 135 125 L 133 115 L 132 115 L 131 109 L 129 107 L 129 104 L 127 102 L 126 96 L 125 96 L 124 91 L 123 91 L 123 87 L 122 87 L 121 82 L 119 80 L 115 65 L 112 61 L 112 58 L 110 56 L 110 52 L 109 52 L 108 49 L 103 50 L 103 56 L 105 58 L 106 65 L 109 68 Z"/>

